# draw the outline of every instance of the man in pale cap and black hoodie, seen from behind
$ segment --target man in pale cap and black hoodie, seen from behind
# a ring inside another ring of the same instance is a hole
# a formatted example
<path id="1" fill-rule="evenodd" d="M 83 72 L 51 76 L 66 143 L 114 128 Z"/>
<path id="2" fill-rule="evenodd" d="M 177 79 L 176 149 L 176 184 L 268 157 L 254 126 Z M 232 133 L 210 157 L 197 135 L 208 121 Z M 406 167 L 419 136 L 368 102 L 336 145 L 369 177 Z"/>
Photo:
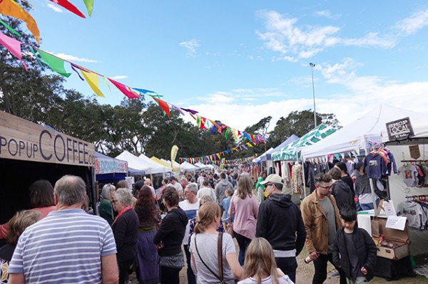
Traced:
<path id="1" fill-rule="evenodd" d="M 302 251 L 306 238 L 302 214 L 291 201 L 290 194 L 281 194 L 280 176 L 270 174 L 260 184 L 265 186 L 268 199 L 260 204 L 255 236 L 270 243 L 277 267 L 295 283 L 296 256 Z"/>

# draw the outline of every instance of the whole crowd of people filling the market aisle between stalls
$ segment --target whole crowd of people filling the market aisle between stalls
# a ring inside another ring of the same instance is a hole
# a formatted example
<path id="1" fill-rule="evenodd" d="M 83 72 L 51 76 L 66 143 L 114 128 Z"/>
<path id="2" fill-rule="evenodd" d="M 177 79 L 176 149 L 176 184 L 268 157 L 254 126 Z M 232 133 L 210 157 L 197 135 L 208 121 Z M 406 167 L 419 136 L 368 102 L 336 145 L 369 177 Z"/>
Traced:
<path id="1" fill-rule="evenodd" d="M 99 216 L 88 209 L 80 177 L 54 187 L 41 180 L 30 187 L 34 208 L 0 226 L 6 283 L 130 283 L 135 271 L 139 283 L 175 284 L 185 263 L 189 284 L 295 283 L 303 246 L 315 267 L 312 283 L 325 281 L 328 261 L 340 283 L 364 283 L 376 247 L 355 226 L 346 177 L 339 167 L 318 174 L 300 207 L 282 194 L 280 176 L 255 181 L 245 169 L 186 173 L 180 182 L 161 179 L 156 190 L 148 178 L 132 189 L 121 181 L 101 187 Z M 255 182 L 263 196 L 254 194 Z"/>

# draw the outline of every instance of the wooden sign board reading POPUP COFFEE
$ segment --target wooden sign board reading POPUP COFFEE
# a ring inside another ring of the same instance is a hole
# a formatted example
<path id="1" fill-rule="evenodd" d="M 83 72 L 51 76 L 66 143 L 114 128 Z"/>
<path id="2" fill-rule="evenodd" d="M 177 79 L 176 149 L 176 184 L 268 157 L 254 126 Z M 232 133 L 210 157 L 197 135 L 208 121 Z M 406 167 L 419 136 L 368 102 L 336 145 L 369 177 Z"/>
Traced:
<path id="1" fill-rule="evenodd" d="M 93 167 L 93 144 L 0 112 L 0 159 Z"/>

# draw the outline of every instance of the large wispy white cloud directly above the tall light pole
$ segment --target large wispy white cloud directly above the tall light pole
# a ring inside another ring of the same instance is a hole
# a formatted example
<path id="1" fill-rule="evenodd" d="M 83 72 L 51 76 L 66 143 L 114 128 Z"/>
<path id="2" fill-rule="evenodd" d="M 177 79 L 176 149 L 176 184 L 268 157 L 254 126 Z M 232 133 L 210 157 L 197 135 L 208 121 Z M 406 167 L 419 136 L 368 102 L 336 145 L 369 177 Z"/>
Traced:
<path id="1" fill-rule="evenodd" d="M 327 15 L 327 11 L 319 11 Z M 258 16 L 265 21 L 265 31 L 255 33 L 265 41 L 265 47 L 277 51 L 287 61 L 297 61 L 298 58 L 310 58 L 332 46 L 377 46 L 391 48 L 396 44 L 392 34 L 379 35 L 370 32 L 362 37 L 342 38 L 338 36 L 341 28 L 337 26 L 298 26 L 296 18 L 286 18 L 276 11 L 259 11 Z M 294 55 L 294 56 L 290 56 Z M 297 58 L 295 58 L 297 57 Z"/>

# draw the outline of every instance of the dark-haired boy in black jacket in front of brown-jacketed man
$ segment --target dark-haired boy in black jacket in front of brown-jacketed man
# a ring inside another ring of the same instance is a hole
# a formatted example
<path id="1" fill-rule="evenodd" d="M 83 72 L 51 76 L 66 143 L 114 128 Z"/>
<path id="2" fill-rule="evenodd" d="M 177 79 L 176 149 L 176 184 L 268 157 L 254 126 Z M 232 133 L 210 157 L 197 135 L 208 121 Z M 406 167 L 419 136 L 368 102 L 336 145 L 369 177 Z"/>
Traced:
<path id="1" fill-rule="evenodd" d="M 367 283 L 374 277 L 376 245 L 365 229 L 355 226 L 355 208 L 343 206 L 340 216 L 343 227 L 336 233 L 332 251 L 333 263 L 342 268 L 349 284 Z"/>

